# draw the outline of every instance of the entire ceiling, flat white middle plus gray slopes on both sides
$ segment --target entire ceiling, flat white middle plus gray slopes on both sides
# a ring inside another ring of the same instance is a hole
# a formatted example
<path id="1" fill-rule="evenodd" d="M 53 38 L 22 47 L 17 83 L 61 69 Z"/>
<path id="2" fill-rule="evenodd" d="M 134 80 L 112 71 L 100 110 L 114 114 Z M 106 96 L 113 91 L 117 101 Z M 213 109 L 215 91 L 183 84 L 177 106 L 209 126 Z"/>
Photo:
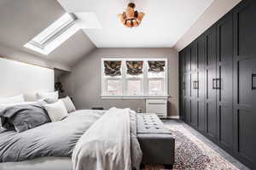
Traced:
<path id="1" fill-rule="evenodd" d="M 146 15 L 141 26 L 128 29 L 117 18 L 128 0 L 0 0 L 0 44 L 69 67 L 96 47 L 171 48 L 176 44 L 180 50 L 240 1 L 133 0 Z M 101 28 L 78 31 L 49 55 L 23 47 L 66 11 L 95 14 Z"/>

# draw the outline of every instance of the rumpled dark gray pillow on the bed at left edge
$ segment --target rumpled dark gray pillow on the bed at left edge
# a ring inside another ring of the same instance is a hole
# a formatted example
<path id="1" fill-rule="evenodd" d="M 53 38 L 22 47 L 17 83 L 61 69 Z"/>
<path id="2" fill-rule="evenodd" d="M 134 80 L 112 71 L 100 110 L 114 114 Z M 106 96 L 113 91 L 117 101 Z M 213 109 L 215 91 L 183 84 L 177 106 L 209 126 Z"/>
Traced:
<path id="1" fill-rule="evenodd" d="M 15 129 L 18 133 L 50 122 L 47 111 L 40 104 L 13 105 L 0 111 L 4 128 Z"/>

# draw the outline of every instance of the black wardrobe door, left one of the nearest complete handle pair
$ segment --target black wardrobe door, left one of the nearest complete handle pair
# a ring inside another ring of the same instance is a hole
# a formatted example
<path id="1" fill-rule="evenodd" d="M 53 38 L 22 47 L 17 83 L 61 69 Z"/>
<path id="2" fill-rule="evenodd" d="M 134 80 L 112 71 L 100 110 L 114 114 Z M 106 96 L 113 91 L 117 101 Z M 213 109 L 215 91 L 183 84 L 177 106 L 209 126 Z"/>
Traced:
<path id="1" fill-rule="evenodd" d="M 216 140 L 217 114 L 216 114 L 216 27 L 212 26 L 206 33 L 206 133 L 207 136 Z"/>

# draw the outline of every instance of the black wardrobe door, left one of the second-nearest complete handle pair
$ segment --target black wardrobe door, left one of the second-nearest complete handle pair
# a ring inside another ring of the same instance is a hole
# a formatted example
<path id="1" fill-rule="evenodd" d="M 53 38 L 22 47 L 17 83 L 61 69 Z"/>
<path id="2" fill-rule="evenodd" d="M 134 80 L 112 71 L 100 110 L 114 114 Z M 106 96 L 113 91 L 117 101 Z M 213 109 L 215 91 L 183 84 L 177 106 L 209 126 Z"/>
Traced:
<path id="1" fill-rule="evenodd" d="M 198 111 L 197 111 L 197 66 L 198 65 L 198 43 L 191 44 L 191 125 L 198 127 Z"/>

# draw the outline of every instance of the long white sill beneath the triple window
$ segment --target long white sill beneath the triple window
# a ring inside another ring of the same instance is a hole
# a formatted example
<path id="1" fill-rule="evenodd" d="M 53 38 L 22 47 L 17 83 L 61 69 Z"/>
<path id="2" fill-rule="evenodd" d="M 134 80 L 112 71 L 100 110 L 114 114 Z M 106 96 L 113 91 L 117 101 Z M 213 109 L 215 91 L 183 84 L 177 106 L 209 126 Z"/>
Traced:
<path id="1" fill-rule="evenodd" d="M 113 95 L 101 95 L 102 99 L 168 99 L 168 95 L 160 96 L 113 96 Z"/>

